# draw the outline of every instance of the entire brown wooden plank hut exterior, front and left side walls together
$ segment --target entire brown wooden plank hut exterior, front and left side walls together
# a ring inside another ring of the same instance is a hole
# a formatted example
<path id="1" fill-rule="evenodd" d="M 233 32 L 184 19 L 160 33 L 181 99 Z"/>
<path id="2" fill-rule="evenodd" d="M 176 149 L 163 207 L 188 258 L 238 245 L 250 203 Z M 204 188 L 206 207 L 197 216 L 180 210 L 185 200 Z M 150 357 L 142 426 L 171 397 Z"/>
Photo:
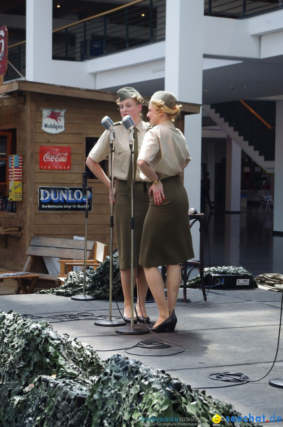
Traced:
<path id="1" fill-rule="evenodd" d="M 65 108 L 66 130 L 51 135 L 41 129 L 41 108 Z M 144 108 L 144 120 L 147 108 Z M 84 212 L 40 212 L 38 211 L 39 186 L 78 186 L 82 184 L 85 170 L 86 137 L 99 137 L 104 131 L 101 119 L 109 115 L 113 121 L 121 120 L 114 102 L 98 101 L 26 92 L 0 104 L 0 130 L 17 130 L 17 154 L 23 155 L 23 202 L 17 203 L 17 213 L 0 212 L 0 226 L 22 227 L 22 237 L 8 236 L 7 248 L 4 236 L 0 236 L 0 269 L 20 271 L 26 261 L 26 250 L 33 236 L 73 238 L 84 236 Z M 177 127 L 183 131 L 184 120 Z M 40 146 L 70 146 L 72 166 L 69 171 L 40 170 Z M 98 180 L 88 180 L 93 189 L 92 212 L 89 212 L 87 237 L 110 243 L 110 203 L 107 188 Z M 115 233 L 113 238 L 116 247 Z M 36 271 L 45 271 L 39 260 Z M 40 266 L 42 268 L 40 268 Z"/>

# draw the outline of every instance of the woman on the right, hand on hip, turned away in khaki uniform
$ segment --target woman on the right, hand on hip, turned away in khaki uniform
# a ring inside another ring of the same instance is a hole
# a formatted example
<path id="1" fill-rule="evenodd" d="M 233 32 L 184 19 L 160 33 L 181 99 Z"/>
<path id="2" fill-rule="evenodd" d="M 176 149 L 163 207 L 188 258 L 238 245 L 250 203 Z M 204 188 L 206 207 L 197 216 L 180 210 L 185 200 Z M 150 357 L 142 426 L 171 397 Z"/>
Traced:
<path id="1" fill-rule="evenodd" d="M 191 160 L 184 135 L 172 123 L 182 105 L 170 92 L 159 91 L 150 99 L 147 117 L 153 125 L 144 137 L 138 157 L 141 178 L 148 178 L 150 205 L 144 220 L 139 263 L 156 304 L 159 318 L 151 330 L 173 332 L 175 304 L 181 281 L 179 263 L 193 258 L 189 202 L 180 180 Z M 158 266 L 167 266 L 167 301 Z"/>

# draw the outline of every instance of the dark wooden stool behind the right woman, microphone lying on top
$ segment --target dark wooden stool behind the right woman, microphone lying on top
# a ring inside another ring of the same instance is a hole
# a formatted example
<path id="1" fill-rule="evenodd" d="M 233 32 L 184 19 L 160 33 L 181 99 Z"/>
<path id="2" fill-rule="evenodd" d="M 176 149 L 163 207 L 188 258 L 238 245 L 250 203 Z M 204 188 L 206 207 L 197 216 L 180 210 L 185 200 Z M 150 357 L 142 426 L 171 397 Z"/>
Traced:
<path id="1" fill-rule="evenodd" d="M 183 299 L 184 302 L 187 302 L 187 281 L 188 278 L 193 271 L 193 269 L 197 268 L 199 270 L 201 286 L 202 286 L 202 295 L 203 299 L 207 301 L 206 292 L 205 292 L 205 283 L 204 283 L 204 275 L 203 275 L 203 228 L 205 223 L 205 214 L 204 213 L 195 213 L 193 215 L 189 214 L 190 228 L 192 228 L 193 224 L 197 221 L 199 222 L 199 260 L 185 260 L 183 263 L 180 263 L 180 266 L 183 266 L 181 270 L 182 279 L 183 279 Z M 189 270 L 188 270 L 189 268 Z"/>

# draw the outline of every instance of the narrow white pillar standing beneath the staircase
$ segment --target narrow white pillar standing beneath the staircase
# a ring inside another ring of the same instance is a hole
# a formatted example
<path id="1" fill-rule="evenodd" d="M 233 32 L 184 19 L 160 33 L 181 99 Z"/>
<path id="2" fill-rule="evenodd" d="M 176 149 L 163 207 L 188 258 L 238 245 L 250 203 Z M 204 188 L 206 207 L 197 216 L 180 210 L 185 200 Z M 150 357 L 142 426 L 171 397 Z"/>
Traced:
<path id="1" fill-rule="evenodd" d="M 225 211 L 240 212 L 241 147 L 227 136 Z"/>

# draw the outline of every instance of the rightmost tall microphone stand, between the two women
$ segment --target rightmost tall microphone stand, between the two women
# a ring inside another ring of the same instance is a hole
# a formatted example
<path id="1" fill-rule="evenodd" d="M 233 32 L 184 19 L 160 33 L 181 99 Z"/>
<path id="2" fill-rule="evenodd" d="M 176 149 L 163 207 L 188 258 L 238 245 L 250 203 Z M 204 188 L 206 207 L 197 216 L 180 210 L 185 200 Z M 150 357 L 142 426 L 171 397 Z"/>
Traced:
<path id="1" fill-rule="evenodd" d="M 134 137 L 134 129 L 133 127 L 130 128 L 129 133 L 129 144 L 130 144 L 130 151 L 131 151 L 131 158 L 130 158 L 130 168 L 132 171 L 132 185 L 131 185 L 131 325 L 130 326 L 123 326 L 122 328 L 116 329 L 116 333 L 121 333 L 125 335 L 142 335 L 144 333 L 149 333 L 148 328 L 143 328 L 141 326 L 134 326 L 134 231 L 135 231 L 135 219 L 134 219 L 134 143 L 135 143 L 135 137 Z"/>

